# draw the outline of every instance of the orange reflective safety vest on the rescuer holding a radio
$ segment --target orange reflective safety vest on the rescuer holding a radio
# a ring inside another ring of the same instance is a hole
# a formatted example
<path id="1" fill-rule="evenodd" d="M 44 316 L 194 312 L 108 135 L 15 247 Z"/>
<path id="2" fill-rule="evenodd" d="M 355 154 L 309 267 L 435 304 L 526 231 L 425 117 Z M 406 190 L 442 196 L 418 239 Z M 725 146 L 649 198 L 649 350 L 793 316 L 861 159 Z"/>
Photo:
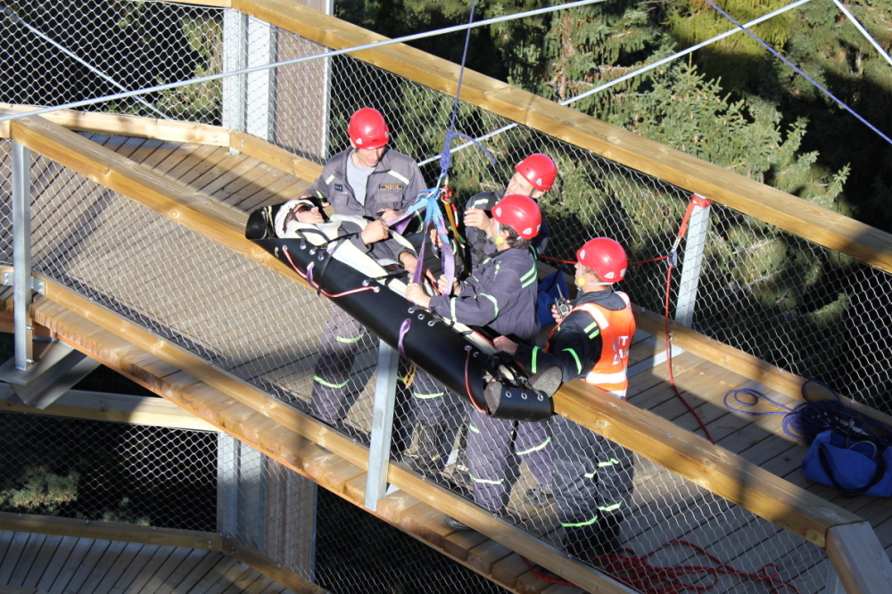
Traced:
<path id="1" fill-rule="evenodd" d="M 626 367 L 629 365 L 632 335 L 635 334 L 635 317 L 629 296 L 620 291 L 616 294 L 625 301 L 624 309 L 614 311 L 594 303 L 581 303 L 572 311 L 581 309 L 589 314 L 601 331 L 601 357 L 582 381 L 625 399 L 625 391 L 629 387 Z"/>

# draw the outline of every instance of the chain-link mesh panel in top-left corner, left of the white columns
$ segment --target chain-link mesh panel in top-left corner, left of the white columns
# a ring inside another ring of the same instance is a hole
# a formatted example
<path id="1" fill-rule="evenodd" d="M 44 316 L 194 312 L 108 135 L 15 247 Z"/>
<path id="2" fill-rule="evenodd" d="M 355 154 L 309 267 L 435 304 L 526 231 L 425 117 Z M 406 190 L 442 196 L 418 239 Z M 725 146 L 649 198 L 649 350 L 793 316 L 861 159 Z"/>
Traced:
<path id="1" fill-rule="evenodd" d="M 166 2 L 4 2 L 5 103 L 59 105 L 220 72 L 219 9 Z M 14 41 L 13 41 L 14 40 Z M 165 120 L 220 122 L 220 84 L 86 107 Z"/>

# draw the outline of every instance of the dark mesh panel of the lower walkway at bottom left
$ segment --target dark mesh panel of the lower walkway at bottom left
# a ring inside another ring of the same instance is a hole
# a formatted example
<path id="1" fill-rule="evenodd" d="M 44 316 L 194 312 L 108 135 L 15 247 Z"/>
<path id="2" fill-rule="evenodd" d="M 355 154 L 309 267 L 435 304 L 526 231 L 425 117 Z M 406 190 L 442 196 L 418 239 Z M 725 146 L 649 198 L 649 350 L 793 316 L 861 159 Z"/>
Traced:
<path id="1" fill-rule="evenodd" d="M 0 428 L 4 512 L 217 531 L 215 433 L 18 413 Z"/>

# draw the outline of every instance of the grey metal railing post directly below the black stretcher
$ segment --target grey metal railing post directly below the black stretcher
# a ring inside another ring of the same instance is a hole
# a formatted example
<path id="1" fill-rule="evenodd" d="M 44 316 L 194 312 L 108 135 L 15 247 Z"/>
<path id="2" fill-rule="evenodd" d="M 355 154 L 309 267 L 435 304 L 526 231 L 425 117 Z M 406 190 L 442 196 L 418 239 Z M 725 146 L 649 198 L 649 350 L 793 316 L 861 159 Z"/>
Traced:
<path id="1" fill-rule="evenodd" d="M 368 481 L 366 507 L 375 511 L 378 499 L 387 491 L 387 465 L 393 431 L 393 408 L 396 400 L 396 375 L 400 355 L 389 344 L 379 341 L 378 370 L 375 384 L 375 406 L 372 413 L 371 445 L 368 449 Z"/>

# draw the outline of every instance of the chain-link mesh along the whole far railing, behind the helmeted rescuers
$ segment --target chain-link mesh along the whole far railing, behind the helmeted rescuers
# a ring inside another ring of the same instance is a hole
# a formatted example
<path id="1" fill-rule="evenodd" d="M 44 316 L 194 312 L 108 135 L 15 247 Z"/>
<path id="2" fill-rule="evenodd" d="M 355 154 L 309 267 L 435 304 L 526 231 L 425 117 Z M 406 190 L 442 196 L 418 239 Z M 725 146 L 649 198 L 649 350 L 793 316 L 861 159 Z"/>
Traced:
<path id="1" fill-rule="evenodd" d="M 84 11 L 89 18 L 77 21 Z M 4 37 L 17 41 L 3 50 L 4 71 L 11 75 L 0 83 L 0 100 L 8 103 L 68 103 L 215 74 L 224 60 L 231 70 L 325 50 L 252 17 L 201 6 L 97 2 L 66 12 L 25 2 L 4 6 L 3 15 Z M 237 33 L 233 39 L 224 38 L 227 26 Z M 38 76 L 21 76 L 29 72 Z M 224 92 L 226 85 L 231 89 Z M 219 124 L 221 111 L 248 114 L 253 120 L 231 115 L 228 123 L 323 162 L 347 146 L 350 114 L 373 105 L 394 131 L 392 146 L 424 163 L 433 184 L 452 103 L 448 95 L 340 55 L 84 109 L 211 124 Z M 541 200 L 552 228 L 545 260 L 573 260 L 585 240 L 609 235 L 624 244 L 632 262 L 647 262 L 632 266 L 624 289 L 642 307 L 664 309 L 666 260 L 653 260 L 671 252 L 690 193 L 468 103 L 460 103 L 454 128 L 485 136 L 481 144 L 495 161 L 474 145 L 453 154 L 450 186 L 459 205 L 481 189 L 503 188 L 524 156 L 549 154 L 560 175 Z M 710 219 L 691 325 L 884 408 L 882 397 L 892 386 L 889 349 L 883 334 L 870 329 L 888 321 L 888 276 L 721 205 Z M 683 243 L 679 253 L 672 302 Z"/>

